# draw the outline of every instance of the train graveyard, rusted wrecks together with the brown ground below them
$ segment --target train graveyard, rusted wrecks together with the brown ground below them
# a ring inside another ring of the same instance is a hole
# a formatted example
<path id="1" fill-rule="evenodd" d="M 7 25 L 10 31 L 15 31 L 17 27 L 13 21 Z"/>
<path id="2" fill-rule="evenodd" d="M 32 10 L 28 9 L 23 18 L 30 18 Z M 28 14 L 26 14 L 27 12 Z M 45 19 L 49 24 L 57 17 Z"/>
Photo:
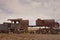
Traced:
<path id="1" fill-rule="evenodd" d="M 59 23 L 54 19 L 37 19 L 36 25 L 23 19 L 8 21 L 0 24 L 0 40 L 60 40 Z"/>

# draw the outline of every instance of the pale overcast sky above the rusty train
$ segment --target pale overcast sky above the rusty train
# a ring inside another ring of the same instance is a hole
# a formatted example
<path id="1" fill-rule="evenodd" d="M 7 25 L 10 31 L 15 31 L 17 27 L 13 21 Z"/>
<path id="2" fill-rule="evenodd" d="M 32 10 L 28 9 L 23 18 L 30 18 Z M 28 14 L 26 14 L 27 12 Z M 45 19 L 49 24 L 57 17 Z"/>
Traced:
<path id="1" fill-rule="evenodd" d="M 60 22 L 60 0 L 0 0 L 0 23 L 10 18 L 29 19 L 30 24 L 37 18 Z"/>

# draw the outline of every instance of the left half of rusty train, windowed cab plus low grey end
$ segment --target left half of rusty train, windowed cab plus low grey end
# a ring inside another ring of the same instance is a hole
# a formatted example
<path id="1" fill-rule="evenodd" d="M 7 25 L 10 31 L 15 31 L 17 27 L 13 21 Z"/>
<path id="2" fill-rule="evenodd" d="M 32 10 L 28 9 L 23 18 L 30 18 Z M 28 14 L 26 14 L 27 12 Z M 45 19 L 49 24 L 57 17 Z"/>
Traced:
<path id="1" fill-rule="evenodd" d="M 0 32 L 3 33 L 23 33 L 28 31 L 28 20 L 22 20 L 22 19 L 8 19 L 8 21 L 11 21 L 11 23 L 4 22 L 3 24 L 0 24 Z"/>

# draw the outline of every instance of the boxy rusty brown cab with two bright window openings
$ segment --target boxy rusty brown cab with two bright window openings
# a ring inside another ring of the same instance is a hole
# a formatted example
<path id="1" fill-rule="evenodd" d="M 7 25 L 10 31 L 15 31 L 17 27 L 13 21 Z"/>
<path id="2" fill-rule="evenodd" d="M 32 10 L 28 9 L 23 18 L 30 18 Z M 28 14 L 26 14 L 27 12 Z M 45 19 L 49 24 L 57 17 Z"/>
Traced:
<path id="1" fill-rule="evenodd" d="M 11 32 L 27 32 L 28 31 L 28 20 L 22 19 L 9 19 L 11 21 Z"/>

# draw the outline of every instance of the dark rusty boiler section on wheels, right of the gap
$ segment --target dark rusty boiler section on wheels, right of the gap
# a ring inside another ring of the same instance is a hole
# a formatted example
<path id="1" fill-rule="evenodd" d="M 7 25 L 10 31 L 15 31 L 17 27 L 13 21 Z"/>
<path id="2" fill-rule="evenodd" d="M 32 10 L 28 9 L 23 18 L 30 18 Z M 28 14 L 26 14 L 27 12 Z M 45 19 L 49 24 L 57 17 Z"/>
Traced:
<path id="1" fill-rule="evenodd" d="M 54 19 L 46 19 L 46 20 L 41 20 L 37 19 L 36 20 L 36 26 L 43 27 L 43 29 L 39 29 L 40 33 L 48 33 L 48 34 L 57 34 L 59 33 L 59 23 L 55 22 Z"/>

